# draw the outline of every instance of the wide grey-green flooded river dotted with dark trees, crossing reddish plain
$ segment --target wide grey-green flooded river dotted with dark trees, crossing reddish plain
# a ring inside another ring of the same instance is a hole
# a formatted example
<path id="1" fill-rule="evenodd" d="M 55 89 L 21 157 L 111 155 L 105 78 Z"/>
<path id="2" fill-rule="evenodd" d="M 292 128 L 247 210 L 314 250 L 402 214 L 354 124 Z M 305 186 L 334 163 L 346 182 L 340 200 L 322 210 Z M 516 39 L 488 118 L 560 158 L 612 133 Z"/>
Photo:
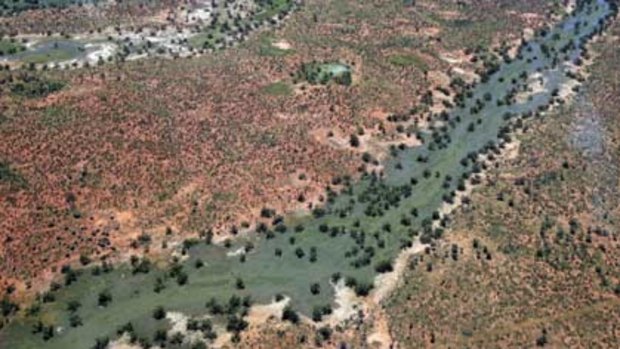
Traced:
<path id="1" fill-rule="evenodd" d="M 39 302 L 38 311 L 20 313 L 5 326 L 0 347 L 91 348 L 96 338 L 117 338 L 117 329 L 128 322 L 137 338 L 153 343 L 158 329 L 170 328 L 168 320 L 154 318 L 157 306 L 199 317 L 209 314 L 205 305 L 211 298 L 228 304 L 232 295 L 251 296 L 255 303 L 265 304 L 282 294 L 290 297 L 295 310 L 309 316 L 317 306 L 336 307 L 335 273 L 366 293 L 377 270 L 389 270 L 390 261 L 403 248 L 420 236 L 440 237 L 441 230 L 431 227 L 433 213 L 451 200 L 465 178 L 481 170 L 472 161 L 475 155 L 497 149 L 506 127 L 519 122 L 517 115 L 535 117 L 549 104 L 554 90 L 568 80 L 564 63 L 579 57 L 580 44 L 611 13 L 605 1 L 588 2 L 548 34 L 536 36 L 524 45 L 519 58 L 503 63 L 443 115 L 444 125 L 424 134 L 423 146 L 393 149 L 382 176 L 343 180 L 344 189 L 328 193 L 328 204 L 313 215 L 276 219 L 275 225 L 239 237 L 228 248 L 200 240 L 176 267 L 152 266 L 148 273 L 135 273 L 132 266 L 121 265 L 98 275 L 92 268 L 82 269 L 76 281 L 50 293 L 53 301 Z M 348 69 L 329 68 L 333 74 Z M 545 91 L 524 102 L 497 102 L 534 73 L 545 78 Z M 246 247 L 245 260 L 231 255 Z M 203 265 L 197 268 L 197 264 Z M 179 285 L 179 280 L 186 282 Z M 106 306 L 100 306 L 102 294 L 111 297 Z M 81 306 L 72 312 L 67 307 L 73 301 Z M 71 327 L 76 316 L 81 324 Z M 227 323 L 225 315 L 212 318 L 215 324 Z M 39 322 L 53 328 L 53 336 L 46 336 L 51 338 L 44 339 L 45 331 L 35 326 Z M 187 342 L 167 345 L 187 346 Z"/>

